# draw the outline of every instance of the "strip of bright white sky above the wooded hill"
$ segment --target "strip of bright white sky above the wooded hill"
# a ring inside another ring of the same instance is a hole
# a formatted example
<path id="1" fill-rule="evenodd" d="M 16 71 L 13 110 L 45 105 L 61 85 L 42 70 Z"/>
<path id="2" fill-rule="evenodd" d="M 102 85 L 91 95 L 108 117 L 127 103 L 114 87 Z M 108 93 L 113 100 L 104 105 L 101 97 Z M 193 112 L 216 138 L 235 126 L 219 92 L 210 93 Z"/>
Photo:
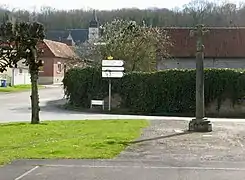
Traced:
<path id="1" fill-rule="evenodd" d="M 212 0 L 209 0 L 212 1 Z M 213 0 L 215 2 L 222 0 Z M 226 0 L 228 2 L 245 2 L 245 0 Z M 118 8 L 175 8 L 187 4 L 190 0 L 0 0 L 1 5 L 7 5 L 10 8 L 21 8 L 37 10 L 41 6 L 49 6 L 55 9 L 118 9 Z"/>

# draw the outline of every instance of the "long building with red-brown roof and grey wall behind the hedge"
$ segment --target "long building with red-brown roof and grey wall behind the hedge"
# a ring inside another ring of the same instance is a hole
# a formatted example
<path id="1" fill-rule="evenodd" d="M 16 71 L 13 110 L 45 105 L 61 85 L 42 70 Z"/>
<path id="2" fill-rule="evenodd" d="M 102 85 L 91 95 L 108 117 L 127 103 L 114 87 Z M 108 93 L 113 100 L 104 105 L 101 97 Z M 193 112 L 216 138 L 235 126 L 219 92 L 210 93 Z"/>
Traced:
<path id="1" fill-rule="evenodd" d="M 173 46 L 170 58 L 158 60 L 157 69 L 196 68 L 196 37 L 190 28 L 164 28 Z M 210 27 L 204 36 L 205 68 L 245 68 L 245 27 Z"/>

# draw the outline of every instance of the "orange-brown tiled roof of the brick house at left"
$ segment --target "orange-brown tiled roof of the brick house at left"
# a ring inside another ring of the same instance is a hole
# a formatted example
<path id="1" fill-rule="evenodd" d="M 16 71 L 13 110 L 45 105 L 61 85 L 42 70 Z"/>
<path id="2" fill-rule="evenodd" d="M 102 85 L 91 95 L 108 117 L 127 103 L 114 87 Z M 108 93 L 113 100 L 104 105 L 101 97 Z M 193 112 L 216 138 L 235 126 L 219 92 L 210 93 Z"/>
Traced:
<path id="1" fill-rule="evenodd" d="M 77 58 L 76 53 L 66 44 L 61 42 L 55 42 L 51 40 L 44 40 L 46 46 L 50 49 L 55 57 L 59 58 Z"/>

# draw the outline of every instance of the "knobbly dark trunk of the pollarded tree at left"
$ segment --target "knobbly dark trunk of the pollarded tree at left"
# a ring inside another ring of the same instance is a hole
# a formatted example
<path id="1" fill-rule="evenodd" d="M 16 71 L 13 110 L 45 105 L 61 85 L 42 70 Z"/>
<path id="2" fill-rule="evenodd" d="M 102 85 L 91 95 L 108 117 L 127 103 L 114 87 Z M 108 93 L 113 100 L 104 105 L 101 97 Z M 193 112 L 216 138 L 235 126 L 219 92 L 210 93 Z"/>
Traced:
<path id="1" fill-rule="evenodd" d="M 31 124 L 39 124 L 38 72 L 31 70 Z"/>

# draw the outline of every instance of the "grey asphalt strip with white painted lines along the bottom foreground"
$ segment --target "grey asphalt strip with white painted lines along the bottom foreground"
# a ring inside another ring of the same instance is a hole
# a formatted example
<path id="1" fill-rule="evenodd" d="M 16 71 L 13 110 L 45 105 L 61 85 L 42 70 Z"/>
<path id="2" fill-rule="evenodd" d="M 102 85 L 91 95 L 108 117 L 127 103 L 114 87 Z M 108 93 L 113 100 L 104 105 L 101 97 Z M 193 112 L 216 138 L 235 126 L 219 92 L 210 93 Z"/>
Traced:
<path id="1" fill-rule="evenodd" d="M 17 161 L 0 180 L 244 180 L 245 164 L 132 160 Z"/>

